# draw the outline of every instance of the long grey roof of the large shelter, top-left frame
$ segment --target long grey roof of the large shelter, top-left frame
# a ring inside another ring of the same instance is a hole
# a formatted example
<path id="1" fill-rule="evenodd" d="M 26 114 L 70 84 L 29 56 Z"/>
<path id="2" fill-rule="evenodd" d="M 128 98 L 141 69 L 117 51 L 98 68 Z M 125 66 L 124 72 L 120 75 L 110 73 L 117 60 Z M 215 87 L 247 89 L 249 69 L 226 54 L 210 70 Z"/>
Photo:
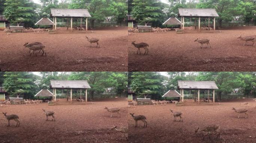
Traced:
<path id="1" fill-rule="evenodd" d="M 56 17 L 91 17 L 87 9 L 51 9 L 51 16 Z"/>

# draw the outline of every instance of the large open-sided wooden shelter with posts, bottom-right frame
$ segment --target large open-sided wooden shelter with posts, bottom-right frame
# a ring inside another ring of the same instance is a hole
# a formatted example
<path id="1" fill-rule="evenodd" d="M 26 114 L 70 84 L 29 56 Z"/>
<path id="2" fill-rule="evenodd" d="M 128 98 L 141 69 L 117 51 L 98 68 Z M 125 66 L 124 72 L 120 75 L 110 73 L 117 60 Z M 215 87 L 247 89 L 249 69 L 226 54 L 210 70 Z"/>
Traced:
<path id="1" fill-rule="evenodd" d="M 214 81 L 185 81 L 178 80 L 178 89 L 180 90 L 180 95 L 182 97 L 182 102 L 184 101 L 184 89 L 185 90 L 198 90 L 198 103 L 200 101 L 200 90 L 208 90 L 208 99 L 210 94 L 210 89 L 213 90 L 213 103 L 214 100 L 214 89 L 219 89 Z"/>

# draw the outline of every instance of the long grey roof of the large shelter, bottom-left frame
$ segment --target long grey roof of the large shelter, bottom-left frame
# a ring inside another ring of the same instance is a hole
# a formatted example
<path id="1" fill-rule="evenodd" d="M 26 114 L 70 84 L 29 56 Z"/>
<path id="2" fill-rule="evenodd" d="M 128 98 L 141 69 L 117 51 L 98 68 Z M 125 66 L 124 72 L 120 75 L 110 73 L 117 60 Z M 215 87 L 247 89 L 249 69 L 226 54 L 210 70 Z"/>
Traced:
<path id="1" fill-rule="evenodd" d="M 50 80 L 51 88 L 91 88 L 87 80 Z"/>

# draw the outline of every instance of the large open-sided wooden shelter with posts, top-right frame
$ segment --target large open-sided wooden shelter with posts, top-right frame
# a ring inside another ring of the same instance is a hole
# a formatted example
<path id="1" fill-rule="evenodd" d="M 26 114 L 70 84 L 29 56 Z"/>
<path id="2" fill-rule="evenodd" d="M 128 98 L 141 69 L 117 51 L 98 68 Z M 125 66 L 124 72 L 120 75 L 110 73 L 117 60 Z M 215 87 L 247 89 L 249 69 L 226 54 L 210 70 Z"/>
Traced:
<path id="1" fill-rule="evenodd" d="M 188 9 L 179 8 L 179 14 L 182 18 L 182 29 L 184 30 L 184 18 L 198 18 L 198 30 L 200 31 L 200 19 L 208 18 L 208 27 L 210 27 L 210 18 L 213 18 L 213 30 L 215 31 L 215 18 L 219 17 L 215 9 Z"/>

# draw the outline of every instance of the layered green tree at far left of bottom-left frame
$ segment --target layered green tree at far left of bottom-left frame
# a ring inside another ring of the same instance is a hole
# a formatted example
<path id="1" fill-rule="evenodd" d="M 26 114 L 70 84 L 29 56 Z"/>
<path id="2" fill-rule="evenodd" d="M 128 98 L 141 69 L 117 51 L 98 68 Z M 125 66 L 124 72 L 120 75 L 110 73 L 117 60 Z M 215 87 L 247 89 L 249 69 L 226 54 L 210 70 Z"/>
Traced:
<path id="1" fill-rule="evenodd" d="M 4 74 L 3 88 L 12 96 L 19 97 L 21 94 L 29 98 L 33 97 L 37 86 L 35 81 L 38 77 L 30 72 L 6 72 Z"/>

